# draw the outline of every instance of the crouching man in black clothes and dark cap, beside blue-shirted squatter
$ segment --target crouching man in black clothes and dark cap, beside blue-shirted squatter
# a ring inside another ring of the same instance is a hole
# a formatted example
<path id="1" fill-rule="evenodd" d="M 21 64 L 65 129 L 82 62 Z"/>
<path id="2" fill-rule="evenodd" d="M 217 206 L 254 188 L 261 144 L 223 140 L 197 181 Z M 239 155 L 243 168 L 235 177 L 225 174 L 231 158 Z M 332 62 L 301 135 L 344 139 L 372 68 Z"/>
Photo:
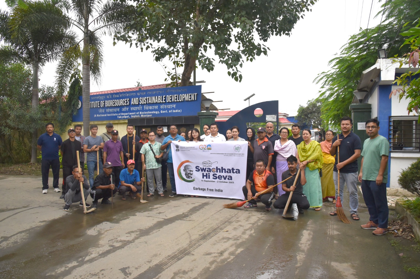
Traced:
<path id="1" fill-rule="evenodd" d="M 97 207 L 98 200 L 102 199 L 101 204 L 112 204 L 109 198 L 117 192 L 115 189 L 115 176 L 112 173 L 113 167 L 110 162 L 103 164 L 103 172 L 100 173 L 93 182 L 90 196 L 93 199 L 93 207 Z"/>

